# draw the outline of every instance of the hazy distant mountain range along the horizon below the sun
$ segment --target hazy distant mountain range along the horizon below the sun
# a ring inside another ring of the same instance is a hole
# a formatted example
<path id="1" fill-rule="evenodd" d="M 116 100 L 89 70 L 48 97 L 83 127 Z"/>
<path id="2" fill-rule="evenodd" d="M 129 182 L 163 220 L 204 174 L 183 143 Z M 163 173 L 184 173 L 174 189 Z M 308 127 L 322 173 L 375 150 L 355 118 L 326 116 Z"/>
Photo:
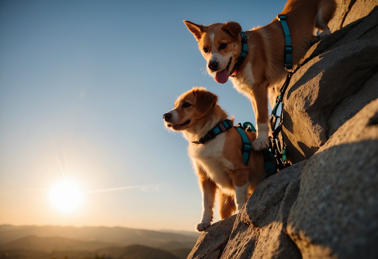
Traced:
<path id="1" fill-rule="evenodd" d="M 186 258 L 199 233 L 0 225 L 0 259 Z"/>

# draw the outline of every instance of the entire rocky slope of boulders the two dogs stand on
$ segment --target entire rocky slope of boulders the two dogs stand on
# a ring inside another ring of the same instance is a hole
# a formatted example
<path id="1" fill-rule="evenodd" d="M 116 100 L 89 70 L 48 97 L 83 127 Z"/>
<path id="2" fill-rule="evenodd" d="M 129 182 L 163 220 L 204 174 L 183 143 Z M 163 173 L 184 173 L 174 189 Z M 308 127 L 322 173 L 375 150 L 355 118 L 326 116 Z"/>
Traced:
<path id="1" fill-rule="evenodd" d="M 333 33 L 284 97 L 294 165 L 204 231 L 188 258 L 378 256 L 378 2 L 337 2 Z"/>

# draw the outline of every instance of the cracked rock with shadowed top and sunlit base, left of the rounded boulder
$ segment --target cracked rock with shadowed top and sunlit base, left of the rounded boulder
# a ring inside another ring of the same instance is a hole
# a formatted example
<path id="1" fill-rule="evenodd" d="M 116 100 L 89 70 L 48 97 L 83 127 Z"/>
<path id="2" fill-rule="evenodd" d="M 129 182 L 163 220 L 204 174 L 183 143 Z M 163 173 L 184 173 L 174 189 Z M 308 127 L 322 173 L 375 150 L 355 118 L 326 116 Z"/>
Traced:
<path id="1" fill-rule="evenodd" d="M 305 164 L 302 161 L 285 168 L 259 185 L 237 214 L 220 258 L 301 258 L 286 228 Z"/>

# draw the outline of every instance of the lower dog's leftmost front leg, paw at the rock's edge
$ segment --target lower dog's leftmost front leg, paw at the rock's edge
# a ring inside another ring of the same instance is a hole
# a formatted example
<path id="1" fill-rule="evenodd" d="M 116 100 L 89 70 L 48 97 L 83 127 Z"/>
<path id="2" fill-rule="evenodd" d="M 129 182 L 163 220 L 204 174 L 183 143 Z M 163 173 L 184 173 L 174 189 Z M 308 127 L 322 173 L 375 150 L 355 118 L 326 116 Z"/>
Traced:
<path id="1" fill-rule="evenodd" d="M 201 167 L 201 165 L 196 164 L 195 167 L 202 193 L 202 219 L 196 227 L 198 231 L 204 231 L 211 225 L 213 219 L 214 199 L 217 186 L 207 176 L 206 171 L 203 169 L 203 167 Z"/>

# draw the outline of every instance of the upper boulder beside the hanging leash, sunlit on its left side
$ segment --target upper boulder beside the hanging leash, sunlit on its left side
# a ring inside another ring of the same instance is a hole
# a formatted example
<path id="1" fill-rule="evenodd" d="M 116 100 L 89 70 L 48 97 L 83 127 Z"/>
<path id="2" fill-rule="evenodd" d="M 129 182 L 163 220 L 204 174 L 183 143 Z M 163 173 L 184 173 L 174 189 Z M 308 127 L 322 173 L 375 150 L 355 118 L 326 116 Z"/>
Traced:
<path id="1" fill-rule="evenodd" d="M 292 162 L 310 158 L 345 121 L 378 98 L 378 7 L 315 44 L 283 101 Z"/>

